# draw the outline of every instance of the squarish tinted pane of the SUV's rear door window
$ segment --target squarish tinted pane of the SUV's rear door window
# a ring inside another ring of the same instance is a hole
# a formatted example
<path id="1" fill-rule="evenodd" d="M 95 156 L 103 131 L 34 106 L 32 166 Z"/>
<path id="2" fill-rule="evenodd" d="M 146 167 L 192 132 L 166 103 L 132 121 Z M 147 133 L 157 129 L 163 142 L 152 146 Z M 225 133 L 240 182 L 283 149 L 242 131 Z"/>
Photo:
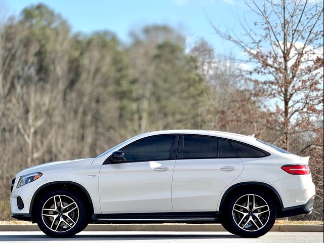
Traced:
<path id="1" fill-rule="evenodd" d="M 217 138 L 184 136 L 183 158 L 216 158 Z"/>

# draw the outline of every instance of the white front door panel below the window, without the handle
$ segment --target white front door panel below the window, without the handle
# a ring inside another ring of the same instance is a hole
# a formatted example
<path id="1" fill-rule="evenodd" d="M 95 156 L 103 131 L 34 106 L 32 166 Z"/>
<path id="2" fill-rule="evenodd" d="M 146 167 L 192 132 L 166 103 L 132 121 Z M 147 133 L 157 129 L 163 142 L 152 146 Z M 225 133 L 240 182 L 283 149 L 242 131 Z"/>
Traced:
<path id="1" fill-rule="evenodd" d="M 171 183 L 175 160 L 103 165 L 99 192 L 103 214 L 172 212 Z M 156 168 L 169 168 L 154 171 Z"/>

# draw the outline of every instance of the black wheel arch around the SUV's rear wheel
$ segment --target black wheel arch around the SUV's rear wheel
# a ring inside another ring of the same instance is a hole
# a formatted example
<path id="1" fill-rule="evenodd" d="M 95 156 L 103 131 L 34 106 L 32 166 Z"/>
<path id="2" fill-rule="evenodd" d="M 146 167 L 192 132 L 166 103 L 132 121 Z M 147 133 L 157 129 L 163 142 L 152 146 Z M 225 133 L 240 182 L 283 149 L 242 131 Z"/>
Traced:
<path id="1" fill-rule="evenodd" d="M 230 186 L 222 196 L 222 199 L 219 204 L 219 211 L 222 211 L 222 208 L 223 208 L 224 204 L 226 203 L 226 200 L 228 200 L 233 193 L 235 193 L 236 191 L 239 191 L 239 190 L 251 189 L 251 188 L 260 189 L 260 190 L 268 192 L 274 200 L 277 214 L 281 213 L 281 210 L 282 210 L 282 208 L 284 208 L 284 205 L 282 204 L 281 197 L 280 197 L 279 193 L 277 192 L 277 190 L 269 184 L 266 184 L 264 182 L 256 182 L 256 181 L 240 182 L 240 183 Z"/>

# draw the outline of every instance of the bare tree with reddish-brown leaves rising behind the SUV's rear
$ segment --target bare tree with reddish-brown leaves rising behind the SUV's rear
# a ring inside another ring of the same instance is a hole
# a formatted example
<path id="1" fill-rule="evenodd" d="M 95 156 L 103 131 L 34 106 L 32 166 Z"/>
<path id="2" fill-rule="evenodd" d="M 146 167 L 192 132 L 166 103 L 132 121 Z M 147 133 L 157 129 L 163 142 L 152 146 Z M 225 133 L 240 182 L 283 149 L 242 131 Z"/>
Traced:
<path id="1" fill-rule="evenodd" d="M 279 145 L 290 149 L 298 133 L 322 131 L 313 126 L 320 119 L 323 102 L 323 6 L 308 0 L 246 1 L 258 21 L 239 20 L 244 36 L 215 31 L 248 56 L 254 69 L 245 76 L 254 85 L 267 109 L 264 126 L 274 129 Z M 270 101 L 272 100 L 272 101 Z"/>

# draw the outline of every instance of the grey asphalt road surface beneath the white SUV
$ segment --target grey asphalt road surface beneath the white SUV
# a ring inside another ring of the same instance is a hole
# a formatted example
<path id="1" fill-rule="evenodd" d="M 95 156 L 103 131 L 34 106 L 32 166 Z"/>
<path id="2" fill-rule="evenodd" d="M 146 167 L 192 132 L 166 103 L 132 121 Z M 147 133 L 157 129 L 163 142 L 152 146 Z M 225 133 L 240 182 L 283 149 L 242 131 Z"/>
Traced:
<path id="1" fill-rule="evenodd" d="M 72 238 L 53 239 L 43 232 L 0 232 L 0 242 L 256 242 L 316 243 L 323 242 L 323 232 L 269 232 L 257 239 L 240 238 L 228 232 L 81 232 Z"/>

